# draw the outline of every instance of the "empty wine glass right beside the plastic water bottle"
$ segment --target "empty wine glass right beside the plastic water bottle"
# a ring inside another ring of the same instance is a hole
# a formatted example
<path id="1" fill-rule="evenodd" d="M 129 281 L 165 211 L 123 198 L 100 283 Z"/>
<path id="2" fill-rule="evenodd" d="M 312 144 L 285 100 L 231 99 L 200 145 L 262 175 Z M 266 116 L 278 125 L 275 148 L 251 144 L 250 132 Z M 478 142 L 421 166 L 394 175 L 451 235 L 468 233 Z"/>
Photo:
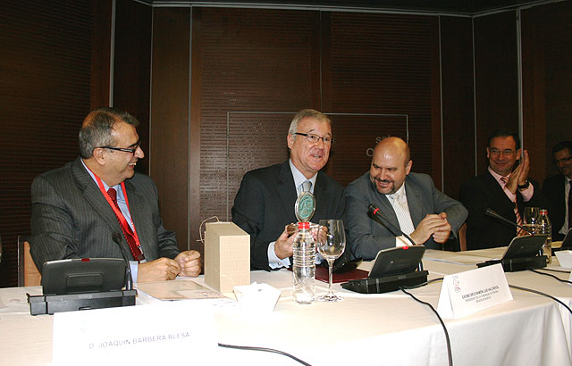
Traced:
<path id="1" fill-rule="evenodd" d="M 328 293 L 318 297 L 318 300 L 327 302 L 341 301 L 343 297 L 334 295 L 332 292 L 332 267 L 333 261 L 339 258 L 346 249 L 346 232 L 343 229 L 343 221 L 320 220 L 317 245 L 318 252 L 328 261 L 328 273 L 330 275 Z"/>

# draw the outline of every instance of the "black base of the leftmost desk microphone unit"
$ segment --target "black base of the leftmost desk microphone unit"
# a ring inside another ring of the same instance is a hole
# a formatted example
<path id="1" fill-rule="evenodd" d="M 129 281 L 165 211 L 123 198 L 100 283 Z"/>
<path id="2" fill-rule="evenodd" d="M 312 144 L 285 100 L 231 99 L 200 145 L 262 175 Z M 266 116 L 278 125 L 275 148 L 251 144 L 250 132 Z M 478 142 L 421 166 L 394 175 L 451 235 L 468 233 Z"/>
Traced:
<path id="1" fill-rule="evenodd" d="M 137 290 L 69 295 L 27 295 L 29 313 L 38 315 L 135 305 Z"/>

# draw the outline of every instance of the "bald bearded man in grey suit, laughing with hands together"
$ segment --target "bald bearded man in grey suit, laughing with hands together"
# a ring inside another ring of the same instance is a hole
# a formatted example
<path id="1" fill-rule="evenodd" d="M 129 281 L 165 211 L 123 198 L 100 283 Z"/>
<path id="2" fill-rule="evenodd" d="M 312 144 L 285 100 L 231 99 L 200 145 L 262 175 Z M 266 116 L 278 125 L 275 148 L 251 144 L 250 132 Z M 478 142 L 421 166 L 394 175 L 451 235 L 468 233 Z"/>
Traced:
<path id="1" fill-rule="evenodd" d="M 416 245 L 439 249 L 467 219 L 465 207 L 437 190 L 428 175 L 412 173 L 412 164 L 406 142 L 386 137 L 375 146 L 370 170 L 346 187 L 345 222 L 354 256 L 370 260 L 381 249 L 411 245 L 393 228 Z M 372 220 L 369 204 L 391 225 Z"/>

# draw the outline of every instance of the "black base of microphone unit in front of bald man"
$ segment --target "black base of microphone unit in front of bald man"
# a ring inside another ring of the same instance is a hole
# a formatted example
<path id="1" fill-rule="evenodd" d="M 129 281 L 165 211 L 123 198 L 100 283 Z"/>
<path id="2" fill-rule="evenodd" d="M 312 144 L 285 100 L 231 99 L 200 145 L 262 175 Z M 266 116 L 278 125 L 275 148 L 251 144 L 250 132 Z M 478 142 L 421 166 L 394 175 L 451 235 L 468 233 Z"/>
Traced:
<path id="1" fill-rule="evenodd" d="M 428 274 L 426 270 L 416 270 L 380 279 L 352 279 L 341 284 L 341 287 L 360 294 L 383 294 L 398 290 L 400 287 L 416 286 L 427 282 Z"/>

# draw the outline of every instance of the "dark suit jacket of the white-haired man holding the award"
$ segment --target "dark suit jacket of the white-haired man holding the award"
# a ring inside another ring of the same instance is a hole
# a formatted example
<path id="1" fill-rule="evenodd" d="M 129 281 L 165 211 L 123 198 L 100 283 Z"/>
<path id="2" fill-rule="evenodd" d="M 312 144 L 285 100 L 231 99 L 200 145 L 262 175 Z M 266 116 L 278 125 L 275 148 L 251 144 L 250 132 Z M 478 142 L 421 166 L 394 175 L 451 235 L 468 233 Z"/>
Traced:
<path id="1" fill-rule="evenodd" d="M 315 213 L 312 222 L 341 219 L 343 187 L 319 171 L 315 179 Z M 232 221 L 250 235 L 250 267 L 270 270 L 268 245 L 284 227 L 296 222 L 294 204 L 298 198 L 288 161 L 248 171 L 232 206 Z"/>

